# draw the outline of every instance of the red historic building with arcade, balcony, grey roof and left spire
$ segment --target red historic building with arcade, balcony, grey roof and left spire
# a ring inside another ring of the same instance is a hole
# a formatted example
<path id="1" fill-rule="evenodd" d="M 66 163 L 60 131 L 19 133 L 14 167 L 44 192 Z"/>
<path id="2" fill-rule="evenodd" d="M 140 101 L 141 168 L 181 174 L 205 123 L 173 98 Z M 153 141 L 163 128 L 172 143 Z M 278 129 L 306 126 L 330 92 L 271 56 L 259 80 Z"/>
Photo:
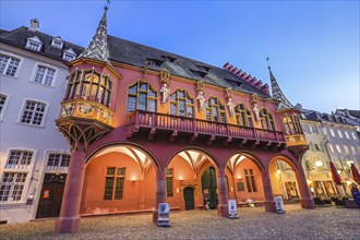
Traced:
<path id="1" fill-rule="evenodd" d="M 229 63 L 221 69 L 108 35 L 106 11 L 70 62 L 56 120 L 71 146 L 56 232 L 77 231 L 81 215 L 153 211 L 156 221 L 163 202 L 228 216 L 229 199 L 252 199 L 274 212 L 277 161 L 293 170 L 289 188 L 302 207 L 314 207 L 299 110 Z"/>

